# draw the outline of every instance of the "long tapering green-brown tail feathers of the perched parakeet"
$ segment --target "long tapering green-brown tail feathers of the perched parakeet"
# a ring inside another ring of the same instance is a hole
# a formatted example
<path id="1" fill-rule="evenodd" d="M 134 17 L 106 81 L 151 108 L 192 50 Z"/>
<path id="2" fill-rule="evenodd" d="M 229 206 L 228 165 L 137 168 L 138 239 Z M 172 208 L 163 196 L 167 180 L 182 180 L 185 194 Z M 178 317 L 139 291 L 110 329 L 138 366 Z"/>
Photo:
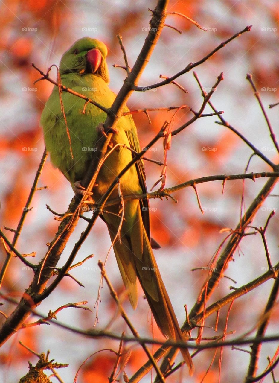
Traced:
<path id="1" fill-rule="evenodd" d="M 116 213 L 115 208 L 111 211 Z M 121 243 L 117 240 L 113 248 L 132 307 L 137 306 L 136 280 L 138 278 L 162 334 L 170 339 L 186 340 L 180 330 L 145 232 L 139 201 L 132 200 L 125 203 L 124 218 Z M 112 214 L 104 214 L 104 220 L 108 226 L 111 241 L 114 241 L 120 220 Z M 188 349 L 181 349 L 181 354 L 189 367 L 190 375 L 193 375 L 194 365 Z"/>

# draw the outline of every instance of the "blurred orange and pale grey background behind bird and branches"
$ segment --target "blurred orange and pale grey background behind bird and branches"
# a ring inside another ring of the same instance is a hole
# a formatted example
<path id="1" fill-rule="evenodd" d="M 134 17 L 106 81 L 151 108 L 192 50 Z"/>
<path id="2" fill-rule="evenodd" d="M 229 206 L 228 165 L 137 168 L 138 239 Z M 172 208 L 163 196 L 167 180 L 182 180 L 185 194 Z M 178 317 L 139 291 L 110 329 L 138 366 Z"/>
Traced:
<path id="1" fill-rule="evenodd" d="M 44 151 L 42 129 L 39 126 L 41 111 L 44 108 L 52 85 L 47 81 L 33 82 L 40 74 L 31 67 L 34 63 L 44 72 L 51 64 L 59 65 L 62 54 L 83 36 L 90 36 L 103 41 L 108 46 L 108 66 L 110 70 L 110 87 L 118 92 L 126 72 L 114 68 L 113 64 L 124 65 L 123 56 L 116 35 L 121 33 L 126 48 L 129 64 L 132 67 L 147 36 L 151 13 L 148 7 L 155 8 L 156 1 L 112 1 L 102 2 L 70 1 L 70 0 L 4 0 L 1 2 L 0 22 L 0 200 L 1 226 L 16 228 L 22 209 L 25 206 L 33 179 Z M 202 31 L 180 16 L 169 15 L 166 23 L 183 31 L 179 34 L 171 28 L 164 28 L 160 41 L 148 63 L 140 81 L 140 86 L 157 83 L 159 75 L 171 76 L 182 70 L 189 62 L 196 62 L 206 56 L 222 41 L 253 25 L 246 32 L 221 49 L 210 60 L 195 68 L 199 79 L 208 92 L 224 72 L 224 80 L 220 83 L 212 97 L 217 110 L 224 110 L 224 118 L 260 149 L 269 159 L 278 162 L 276 151 L 269 136 L 268 127 L 263 114 L 254 97 L 250 84 L 245 79 L 251 73 L 258 88 L 269 119 L 277 129 L 278 107 L 268 110 L 268 104 L 278 101 L 278 3 L 276 1 L 170 1 L 169 12 L 180 12 L 196 20 L 209 31 Z M 56 79 L 55 68 L 51 71 L 52 79 Z M 177 79 L 178 83 L 188 90 L 183 93 L 175 85 L 166 85 L 148 92 L 134 92 L 129 99 L 131 110 L 144 107 L 165 107 L 188 105 L 199 110 L 201 91 L 189 72 Z M 209 106 L 205 113 L 211 113 Z M 134 115 L 140 144 L 142 147 L 158 132 L 165 120 L 170 121 L 174 112 L 150 112 L 151 124 L 144 113 Z M 184 110 L 176 113 L 173 128 L 181 126 L 193 116 Z M 228 129 L 215 124 L 216 116 L 198 119 L 178 136 L 173 137 L 168 152 L 168 170 L 166 187 L 192 178 L 217 174 L 236 174 L 245 171 L 246 164 L 252 154 L 244 142 Z M 278 137 L 277 137 L 278 139 Z M 162 141 L 159 141 L 148 157 L 163 160 Z M 145 163 L 148 190 L 160 177 L 158 165 Z M 259 157 L 254 156 L 248 172 L 271 171 Z M 244 183 L 245 208 L 258 194 L 267 179 L 256 182 L 246 180 Z M 54 211 L 63 213 L 67 210 L 73 191 L 68 181 L 52 168 L 49 159 L 42 171 L 39 187 L 49 188 L 37 191 L 28 213 L 24 228 L 18 241 L 18 250 L 24 253 L 37 252 L 35 262 L 39 262 L 45 254 L 47 242 L 51 242 L 59 222 L 46 209 L 50 205 Z M 206 266 L 219 244 L 227 236 L 220 232 L 223 228 L 235 228 L 240 218 L 241 194 L 243 182 L 227 181 L 222 195 L 222 182 L 209 182 L 197 186 L 204 216 L 201 214 L 193 188 L 186 188 L 173 196 L 178 200 L 151 200 L 152 236 L 160 243 L 161 249 L 155 250 L 163 280 L 173 302 L 179 322 L 185 320 L 184 304 L 190 311 L 207 274 L 202 270 L 195 272 L 191 268 Z M 278 195 L 278 187 L 272 191 Z M 278 196 L 270 196 L 259 210 L 253 225 L 264 226 L 272 209 L 277 211 L 271 219 L 267 240 L 272 262 L 278 260 Z M 59 265 L 63 265 L 73 244 L 85 228 L 80 220 L 70 238 Z M 5 231 L 8 238 L 12 233 Z M 110 240 L 105 225 L 99 219 L 93 231 L 82 246 L 76 261 L 94 254 L 82 267 L 72 271 L 72 275 L 83 283 L 79 287 L 70 278 L 64 278 L 59 287 L 45 300 L 38 311 L 46 314 L 69 302 L 88 301 L 92 313 L 82 309 L 67 308 L 62 310 L 57 319 L 70 326 L 88 329 L 93 327 L 96 318 L 95 301 L 98 296 L 100 271 L 98 260 L 104 261 L 109 250 Z M 5 251 L 1 247 L 0 262 L 3 264 Z M 34 259 L 31 259 L 34 262 Z M 259 235 L 245 237 L 235 253 L 234 262 L 226 271 L 227 278 L 220 281 L 209 303 L 230 293 L 230 285 L 240 287 L 263 273 L 266 267 L 264 247 Z M 114 258 L 109 254 L 106 270 L 117 292 L 123 292 L 122 280 Z M 20 260 L 13 259 L 8 268 L 2 291 L 20 299 L 28 286 L 33 273 L 24 270 Z M 267 301 L 273 285 L 268 281 L 251 293 L 235 301 L 230 313 L 227 331 L 235 331 L 227 339 L 251 330 Z M 146 301 L 140 292 L 139 305 L 133 311 L 127 300 L 124 308 L 139 331 L 140 335 L 152 335 L 152 322 Z M 124 296 L 121 295 L 124 299 Z M 219 327 L 214 331 L 214 318 L 206 321 L 205 336 L 215 336 L 224 331 L 225 307 L 220 312 Z M 2 310 L 9 314 L 13 306 L 5 303 Z M 276 312 L 277 311 L 277 312 Z M 121 334 L 127 326 L 121 318 L 111 323 L 116 313 L 116 306 L 104 284 L 101 289 L 101 303 L 98 306 L 98 323 L 96 329 L 106 326 L 110 331 Z M 267 334 L 278 329 L 278 306 L 271 317 Z M 0 317 L 2 321 L 4 318 Z M 29 318 L 29 322 L 36 318 Z M 153 334 L 162 338 L 153 323 Z M 255 332 L 252 333 L 252 335 Z M 192 332 L 196 336 L 196 331 Z M 51 351 L 50 359 L 59 363 L 69 363 L 68 368 L 59 370 L 65 382 L 73 381 L 80 364 L 90 354 L 101 349 L 118 349 L 118 343 L 108 339 L 92 340 L 65 331 L 51 324 L 21 330 L 16 333 L 0 350 L 0 375 L 3 382 L 16 382 L 28 372 L 27 360 L 36 364 L 37 358 L 18 344 L 21 340 L 39 354 Z M 131 357 L 126 366 L 126 373 L 131 376 L 145 361 L 144 352 L 137 345 L 126 345 L 131 349 Z M 267 366 L 266 357 L 274 355 L 276 343 L 264 344 L 259 363 L 259 373 Z M 154 347 L 156 349 L 156 347 Z M 250 350 L 248 346 L 243 349 Z M 188 377 L 186 368 L 173 374 L 170 382 L 199 382 L 206 372 L 214 350 L 202 352 L 194 358 L 196 374 Z M 179 356 L 180 358 L 180 356 Z M 80 372 L 78 382 L 104 382 L 111 374 L 115 356 L 110 352 L 100 352 L 90 358 Z M 204 383 L 218 380 L 219 352 Z M 239 382 L 248 369 L 250 355 L 238 350 L 224 350 L 222 360 L 221 381 Z M 179 361 L 179 360 L 178 360 Z M 154 376 L 154 374 L 153 374 Z M 279 369 L 275 376 L 279 378 Z M 56 381 L 52 378 L 52 381 Z M 150 375 L 142 382 L 149 382 Z M 271 376 L 265 380 L 271 382 Z"/>

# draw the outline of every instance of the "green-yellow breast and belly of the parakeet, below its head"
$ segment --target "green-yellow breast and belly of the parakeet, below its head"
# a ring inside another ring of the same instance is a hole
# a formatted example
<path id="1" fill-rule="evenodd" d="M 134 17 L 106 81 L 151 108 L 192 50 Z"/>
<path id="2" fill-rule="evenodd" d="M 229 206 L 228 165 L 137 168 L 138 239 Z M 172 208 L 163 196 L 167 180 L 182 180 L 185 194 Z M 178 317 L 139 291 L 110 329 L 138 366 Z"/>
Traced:
<path id="1" fill-rule="evenodd" d="M 115 94 L 104 80 L 96 75 L 70 73 L 62 75 L 61 82 L 106 108 L 112 105 L 115 98 Z M 60 106 L 60 97 L 64 110 Z M 100 123 L 104 123 L 106 117 L 106 113 L 97 106 L 91 103 L 85 106 L 85 100 L 82 98 L 68 92 L 62 92 L 59 96 L 58 88 L 54 87 L 42 113 L 41 125 L 52 164 L 67 177 L 72 185 L 85 176 L 92 157 L 96 153 L 99 134 L 96 128 Z M 127 131 L 132 131 L 132 134 L 136 132 L 131 116 L 122 117 L 116 128 L 119 133 L 114 134 L 113 144 L 121 143 L 130 147 Z M 95 190 L 97 199 L 108 189 L 116 175 L 131 159 L 131 151 L 119 146 L 109 155 L 98 176 L 99 186 Z M 122 192 L 128 194 L 142 192 L 135 167 L 122 177 L 121 185 Z M 115 192 L 114 195 L 116 194 Z"/>

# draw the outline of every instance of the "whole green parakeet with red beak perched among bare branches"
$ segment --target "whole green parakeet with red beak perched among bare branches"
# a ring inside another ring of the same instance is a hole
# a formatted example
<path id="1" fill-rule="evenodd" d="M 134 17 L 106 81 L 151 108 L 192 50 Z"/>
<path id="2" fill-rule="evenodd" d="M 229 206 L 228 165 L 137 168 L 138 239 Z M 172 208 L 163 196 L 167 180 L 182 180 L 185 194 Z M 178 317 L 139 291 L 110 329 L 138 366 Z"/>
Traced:
<path id="1" fill-rule="evenodd" d="M 77 40 L 62 56 L 59 65 L 61 82 L 75 92 L 81 93 L 99 104 L 110 108 L 116 95 L 109 89 L 109 73 L 106 64 L 108 50 L 101 41 L 91 38 Z M 51 162 L 70 181 L 81 181 L 95 154 L 98 139 L 97 127 L 106 120 L 106 113 L 68 92 L 62 92 L 62 104 L 67 121 L 60 105 L 59 91 L 55 86 L 47 100 L 41 116 L 44 140 Z M 124 111 L 128 111 L 125 106 Z M 69 136 L 67 134 L 69 129 Z M 137 129 L 131 115 L 123 116 L 117 123 L 117 134 L 113 134 L 111 145 L 125 144 L 140 151 Z M 104 162 L 93 188 L 93 200 L 98 202 L 108 190 L 116 175 L 132 160 L 132 152 L 118 146 Z M 146 192 L 145 173 L 142 160 L 136 162 L 120 179 L 122 195 L 139 195 Z M 117 198 L 117 188 L 110 198 Z M 102 218 L 108 226 L 111 240 L 114 241 L 120 224 L 120 204 L 106 208 L 114 214 L 104 213 Z M 127 200 L 124 203 L 124 220 L 120 232 L 121 241 L 114 242 L 113 249 L 119 270 L 129 294 L 132 307 L 137 306 L 137 279 L 144 290 L 155 321 L 164 336 L 181 340 L 179 328 L 168 293 L 150 245 L 150 223 L 148 201 Z M 190 374 L 194 366 L 187 349 L 181 349 L 188 364 Z"/>

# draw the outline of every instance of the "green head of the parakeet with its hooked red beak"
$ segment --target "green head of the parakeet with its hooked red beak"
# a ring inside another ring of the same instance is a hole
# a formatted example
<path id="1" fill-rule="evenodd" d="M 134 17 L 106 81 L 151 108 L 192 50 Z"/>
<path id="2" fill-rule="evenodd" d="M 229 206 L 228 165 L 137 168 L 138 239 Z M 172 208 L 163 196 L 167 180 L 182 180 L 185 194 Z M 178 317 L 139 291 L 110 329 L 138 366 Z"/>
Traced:
<path id="1" fill-rule="evenodd" d="M 65 73 L 95 74 L 109 82 L 106 56 L 108 49 L 99 40 L 83 37 L 64 53 L 59 64 L 60 75 Z"/>

